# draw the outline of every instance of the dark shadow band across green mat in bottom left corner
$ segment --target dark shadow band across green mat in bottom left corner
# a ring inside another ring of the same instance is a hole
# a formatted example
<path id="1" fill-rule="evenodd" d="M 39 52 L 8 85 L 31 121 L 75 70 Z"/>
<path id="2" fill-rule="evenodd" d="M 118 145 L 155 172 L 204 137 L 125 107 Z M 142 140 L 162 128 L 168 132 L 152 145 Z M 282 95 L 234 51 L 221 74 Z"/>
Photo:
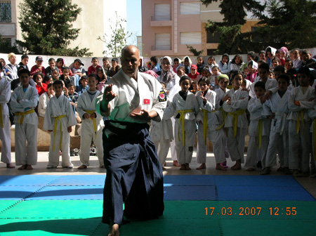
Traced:
<path id="1" fill-rule="evenodd" d="M 96 218 L 81 218 L 81 219 L 51 219 L 44 220 L 32 219 L 8 219 L 1 220 L 16 221 L 14 223 L 7 223 L 0 225 L 1 232 L 17 232 L 17 231 L 44 231 L 55 234 L 67 234 L 67 235 L 91 235 L 101 223 L 101 217 Z M 19 232 L 23 235 L 22 232 Z M 41 232 L 34 232 L 34 235 L 41 235 Z"/>

